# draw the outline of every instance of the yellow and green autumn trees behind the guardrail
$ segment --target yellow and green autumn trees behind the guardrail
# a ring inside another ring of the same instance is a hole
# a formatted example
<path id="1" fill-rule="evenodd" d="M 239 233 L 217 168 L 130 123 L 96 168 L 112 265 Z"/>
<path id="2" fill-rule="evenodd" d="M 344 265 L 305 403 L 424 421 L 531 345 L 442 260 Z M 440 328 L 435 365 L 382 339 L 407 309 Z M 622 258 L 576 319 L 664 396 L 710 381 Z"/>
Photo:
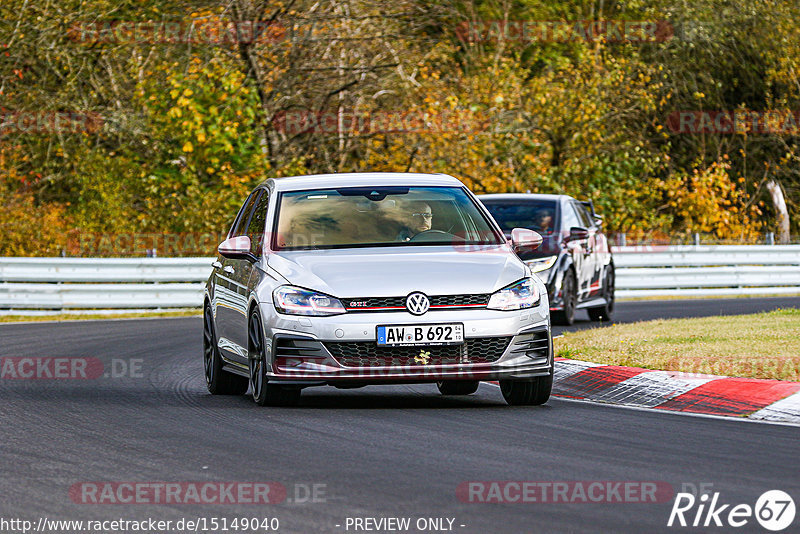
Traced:
<path id="1" fill-rule="evenodd" d="M 566 193 L 592 199 L 610 233 L 673 241 L 759 239 L 774 226 L 764 191 L 774 179 L 797 228 L 798 132 L 667 123 L 681 110 L 797 110 L 800 8 L 701 0 L 678 15 L 666 0 L 609 4 L 4 1 L 0 118 L 102 120 L 3 123 L 0 255 L 73 254 L 68 241 L 81 234 L 218 234 L 255 184 L 322 172 L 443 172 L 477 193 Z M 605 19 L 662 21 L 671 33 L 476 41 L 459 31 L 476 20 Z M 103 21 L 267 33 L 76 34 Z M 293 130 L 287 116 L 326 127 Z M 364 117 L 373 121 L 353 126 Z"/>

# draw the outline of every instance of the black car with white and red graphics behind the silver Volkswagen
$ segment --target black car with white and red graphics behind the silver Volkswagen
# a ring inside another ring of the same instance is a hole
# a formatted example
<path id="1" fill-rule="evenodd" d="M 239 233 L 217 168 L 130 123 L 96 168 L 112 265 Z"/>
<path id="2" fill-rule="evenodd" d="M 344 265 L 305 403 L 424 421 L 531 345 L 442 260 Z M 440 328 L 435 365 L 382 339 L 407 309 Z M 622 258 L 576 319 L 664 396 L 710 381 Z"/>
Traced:
<path id="1" fill-rule="evenodd" d="M 520 258 L 547 285 L 554 322 L 570 325 L 580 309 L 586 309 L 593 321 L 611 320 L 614 260 L 602 218 L 591 201 L 533 194 L 478 198 L 507 235 L 513 228 L 530 228 L 542 235 L 541 246 L 520 252 Z"/>

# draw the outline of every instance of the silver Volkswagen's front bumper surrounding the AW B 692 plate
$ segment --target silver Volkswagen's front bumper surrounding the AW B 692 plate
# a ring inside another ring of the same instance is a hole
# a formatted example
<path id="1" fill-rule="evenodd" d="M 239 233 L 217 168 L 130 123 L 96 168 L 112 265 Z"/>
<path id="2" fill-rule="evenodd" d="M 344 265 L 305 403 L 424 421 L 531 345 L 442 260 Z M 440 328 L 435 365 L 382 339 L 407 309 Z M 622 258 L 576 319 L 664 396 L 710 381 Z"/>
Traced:
<path id="1" fill-rule="evenodd" d="M 465 343 L 377 346 L 377 325 L 420 322 L 463 323 Z M 546 303 L 515 312 L 437 311 L 422 320 L 405 312 L 303 318 L 274 314 L 272 325 L 265 328 L 271 362 L 267 378 L 283 384 L 527 379 L 550 374 L 553 369 Z"/>

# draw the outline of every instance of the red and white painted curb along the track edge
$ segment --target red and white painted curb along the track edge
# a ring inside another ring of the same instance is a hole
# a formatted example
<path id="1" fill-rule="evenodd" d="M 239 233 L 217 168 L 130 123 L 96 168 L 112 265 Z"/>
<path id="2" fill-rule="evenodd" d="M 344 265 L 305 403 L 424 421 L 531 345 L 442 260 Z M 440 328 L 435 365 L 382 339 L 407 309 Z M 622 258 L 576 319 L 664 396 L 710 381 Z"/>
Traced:
<path id="1" fill-rule="evenodd" d="M 653 371 L 556 358 L 553 395 L 800 424 L 800 382 Z"/>

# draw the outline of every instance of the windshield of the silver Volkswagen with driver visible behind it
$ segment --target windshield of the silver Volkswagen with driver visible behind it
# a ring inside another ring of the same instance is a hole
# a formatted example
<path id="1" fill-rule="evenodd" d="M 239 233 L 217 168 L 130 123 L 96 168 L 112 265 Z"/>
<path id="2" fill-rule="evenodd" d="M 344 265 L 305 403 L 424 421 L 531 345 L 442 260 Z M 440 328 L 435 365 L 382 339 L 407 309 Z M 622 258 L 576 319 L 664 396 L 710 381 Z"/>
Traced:
<path id="1" fill-rule="evenodd" d="M 458 187 L 347 187 L 284 192 L 275 250 L 505 243 Z"/>

